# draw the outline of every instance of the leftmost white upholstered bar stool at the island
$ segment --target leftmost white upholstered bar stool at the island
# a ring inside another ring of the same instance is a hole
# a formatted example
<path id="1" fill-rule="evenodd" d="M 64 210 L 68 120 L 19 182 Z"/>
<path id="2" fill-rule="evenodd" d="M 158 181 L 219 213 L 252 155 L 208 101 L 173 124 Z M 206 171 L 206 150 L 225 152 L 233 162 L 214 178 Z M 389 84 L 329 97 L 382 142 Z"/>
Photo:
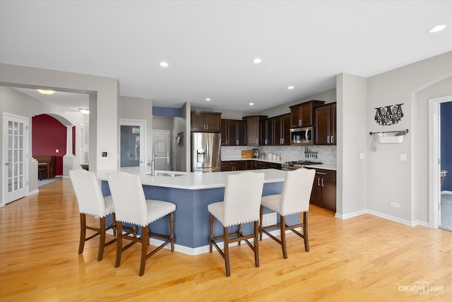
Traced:
<path id="1" fill-rule="evenodd" d="M 97 252 L 97 261 L 102 260 L 104 255 L 104 248 L 116 241 L 116 238 L 105 243 L 105 231 L 109 229 L 115 230 L 114 221 L 114 205 L 112 197 L 103 197 L 100 190 L 99 181 L 93 172 L 78 169 L 70 170 L 69 176 L 73 185 L 73 190 L 76 192 L 78 211 L 80 211 L 80 242 L 78 243 L 78 254 L 83 253 L 85 241 L 88 241 L 96 236 L 100 236 L 99 251 Z M 86 215 L 99 217 L 100 226 L 87 226 Z M 113 221 L 110 226 L 105 226 L 105 216 L 112 214 Z M 86 238 L 86 230 L 95 231 L 93 235 Z M 116 231 L 114 231 L 116 236 Z"/>

